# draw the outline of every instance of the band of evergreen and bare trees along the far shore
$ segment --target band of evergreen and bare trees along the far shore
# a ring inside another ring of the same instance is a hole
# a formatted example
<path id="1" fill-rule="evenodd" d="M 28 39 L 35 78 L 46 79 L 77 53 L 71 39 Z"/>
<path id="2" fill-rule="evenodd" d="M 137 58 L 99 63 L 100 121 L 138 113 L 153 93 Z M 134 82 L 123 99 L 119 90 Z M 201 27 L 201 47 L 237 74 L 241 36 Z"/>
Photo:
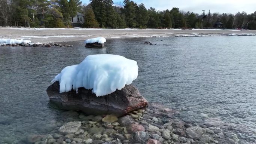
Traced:
<path id="1" fill-rule="evenodd" d="M 147 9 L 132 0 L 113 3 L 112 0 L 0 0 L 0 26 L 72 27 L 71 18 L 77 12 L 85 15 L 85 28 L 221 28 L 256 30 L 256 11 L 198 14 L 178 7 L 170 10 Z"/>

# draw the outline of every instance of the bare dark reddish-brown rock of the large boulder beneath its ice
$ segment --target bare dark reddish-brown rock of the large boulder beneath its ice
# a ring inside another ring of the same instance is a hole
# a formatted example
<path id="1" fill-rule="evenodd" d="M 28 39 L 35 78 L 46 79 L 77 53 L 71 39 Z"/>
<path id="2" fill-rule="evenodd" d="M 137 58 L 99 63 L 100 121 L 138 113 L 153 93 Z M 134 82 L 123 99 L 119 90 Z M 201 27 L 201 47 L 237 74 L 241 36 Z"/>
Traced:
<path id="1" fill-rule="evenodd" d="M 60 84 L 54 82 L 46 90 L 50 101 L 66 110 L 83 111 L 86 114 L 115 114 L 122 116 L 130 111 L 147 105 L 147 100 L 140 95 L 133 85 L 125 85 L 111 94 L 96 96 L 91 90 L 78 88 L 78 91 L 60 93 Z"/>

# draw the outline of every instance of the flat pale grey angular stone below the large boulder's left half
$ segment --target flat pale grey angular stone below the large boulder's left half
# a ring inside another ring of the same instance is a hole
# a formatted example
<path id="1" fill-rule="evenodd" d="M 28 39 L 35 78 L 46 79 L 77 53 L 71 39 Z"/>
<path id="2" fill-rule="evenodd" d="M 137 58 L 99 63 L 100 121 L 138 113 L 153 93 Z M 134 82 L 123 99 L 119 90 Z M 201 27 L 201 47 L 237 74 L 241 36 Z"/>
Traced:
<path id="1" fill-rule="evenodd" d="M 81 122 L 68 122 L 65 125 L 61 126 L 58 130 L 63 134 L 72 134 L 79 130 Z"/>

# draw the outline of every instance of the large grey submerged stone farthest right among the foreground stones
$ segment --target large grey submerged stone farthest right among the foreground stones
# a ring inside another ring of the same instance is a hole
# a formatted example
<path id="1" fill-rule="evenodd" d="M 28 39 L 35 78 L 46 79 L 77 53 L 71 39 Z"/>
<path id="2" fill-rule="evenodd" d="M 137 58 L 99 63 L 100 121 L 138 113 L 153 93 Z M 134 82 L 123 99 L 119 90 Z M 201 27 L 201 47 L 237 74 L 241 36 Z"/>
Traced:
<path id="1" fill-rule="evenodd" d="M 193 127 L 186 129 L 186 134 L 189 138 L 198 140 L 201 138 L 204 131 L 205 131 L 205 129 L 203 129 L 199 126 L 193 126 Z"/>

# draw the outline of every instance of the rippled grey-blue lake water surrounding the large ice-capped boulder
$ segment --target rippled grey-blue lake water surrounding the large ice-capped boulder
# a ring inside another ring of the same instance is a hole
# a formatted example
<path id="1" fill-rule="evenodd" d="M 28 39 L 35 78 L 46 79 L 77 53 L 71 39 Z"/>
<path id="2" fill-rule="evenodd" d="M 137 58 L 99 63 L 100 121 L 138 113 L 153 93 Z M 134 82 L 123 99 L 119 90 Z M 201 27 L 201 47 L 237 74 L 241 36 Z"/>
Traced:
<path id="1" fill-rule="evenodd" d="M 178 119 L 256 139 L 256 37 L 113 39 L 103 49 L 68 44 L 74 47 L 0 47 L 0 144 L 76 120 L 77 113 L 49 103 L 46 88 L 67 65 L 105 53 L 136 60 L 134 85 L 149 101 L 179 111 Z"/>

